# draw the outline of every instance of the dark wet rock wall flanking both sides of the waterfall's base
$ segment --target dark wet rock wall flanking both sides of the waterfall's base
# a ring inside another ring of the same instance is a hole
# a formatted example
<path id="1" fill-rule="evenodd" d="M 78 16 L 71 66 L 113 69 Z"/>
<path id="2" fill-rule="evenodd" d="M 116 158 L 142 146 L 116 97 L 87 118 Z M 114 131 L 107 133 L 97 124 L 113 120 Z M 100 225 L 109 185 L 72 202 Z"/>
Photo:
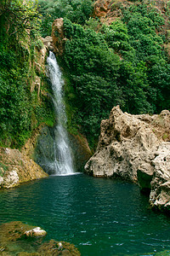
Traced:
<path id="1" fill-rule="evenodd" d="M 83 172 L 83 167 L 92 155 L 90 148 L 88 146 L 88 141 L 81 134 L 77 136 L 69 134 L 69 140 L 71 144 L 71 153 L 74 162 L 74 167 L 77 172 Z M 32 142 L 33 143 L 33 142 Z M 31 141 L 26 144 L 28 148 L 32 148 Z M 54 162 L 54 128 L 44 126 L 41 131 L 39 131 L 39 136 L 37 137 L 37 142 L 34 143 L 34 160 L 38 165 L 42 166 L 43 170 L 48 174 L 53 174 L 54 170 L 48 163 Z M 25 147 L 26 148 L 26 147 Z M 25 149 L 24 152 L 29 154 L 29 150 Z M 32 150 L 30 153 L 33 152 Z"/>

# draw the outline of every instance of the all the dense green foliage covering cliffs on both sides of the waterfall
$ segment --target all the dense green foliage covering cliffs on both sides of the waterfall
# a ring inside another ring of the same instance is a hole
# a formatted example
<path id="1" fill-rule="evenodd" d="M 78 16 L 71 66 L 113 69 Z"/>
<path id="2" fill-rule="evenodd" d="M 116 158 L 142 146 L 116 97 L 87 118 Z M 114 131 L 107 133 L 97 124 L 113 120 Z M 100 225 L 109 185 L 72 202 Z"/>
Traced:
<path id="1" fill-rule="evenodd" d="M 116 8 L 121 18 L 108 26 L 90 17 L 93 0 L 38 0 L 38 6 L 31 0 L 1 1 L 1 143 L 19 146 L 38 124 L 54 123 L 47 96 L 38 98 L 31 83 L 36 75 L 45 79 L 34 67 L 42 47 L 38 32 L 50 35 L 60 17 L 67 40 L 59 61 L 65 71 L 71 132 L 81 130 L 94 147 L 101 119 L 108 118 L 116 104 L 130 113 L 170 108 L 170 63 L 164 49 L 170 38 L 168 4 L 163 15 L 154 3 L 143 1 L 127 6 L 117 2 L 111 6 Z"/>

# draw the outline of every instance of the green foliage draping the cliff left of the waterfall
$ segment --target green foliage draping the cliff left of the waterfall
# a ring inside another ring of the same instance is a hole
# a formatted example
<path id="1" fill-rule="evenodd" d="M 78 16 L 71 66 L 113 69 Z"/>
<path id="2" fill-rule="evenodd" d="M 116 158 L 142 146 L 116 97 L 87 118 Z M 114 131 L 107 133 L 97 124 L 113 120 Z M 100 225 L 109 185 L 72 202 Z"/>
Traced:
<path id="1" fill-rule="evenodd" d="M 0 144 L 20 147 L 37 125 L 49 123 L 52 107 L 47 97 L 38 98 L 37 90 L 31 90 L 42 47 L 36 6 L 10 0 L 0 7 Z"/>

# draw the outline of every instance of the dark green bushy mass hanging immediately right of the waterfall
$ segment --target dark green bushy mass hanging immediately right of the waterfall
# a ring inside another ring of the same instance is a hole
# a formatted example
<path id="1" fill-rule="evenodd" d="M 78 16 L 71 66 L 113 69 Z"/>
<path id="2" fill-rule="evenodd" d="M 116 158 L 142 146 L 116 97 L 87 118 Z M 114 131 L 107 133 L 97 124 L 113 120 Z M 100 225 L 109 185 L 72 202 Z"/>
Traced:
<path id="1" fill-rule="evenodd" d="M 78 108 L 77 123 L 86 135 L 99 135 L 99 123 L 119 103 L 116 75 L 119 57 L 108 48 L 104 35 L 65 20 L 65 63 L 71 72 Z M 70 99 L 71 102 L 71 99 Z M 75 106 L 75 99 L 72 101 Z"/>

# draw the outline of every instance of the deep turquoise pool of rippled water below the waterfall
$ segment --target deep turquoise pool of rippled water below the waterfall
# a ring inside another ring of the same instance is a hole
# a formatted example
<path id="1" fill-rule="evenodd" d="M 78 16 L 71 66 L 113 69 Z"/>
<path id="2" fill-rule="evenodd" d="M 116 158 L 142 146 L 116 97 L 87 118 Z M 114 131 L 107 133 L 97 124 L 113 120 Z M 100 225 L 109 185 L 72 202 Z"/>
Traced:
<path id="1" fill-rule="evenodd" d="M 41 226 L 48 239 L 74 243 L 82 256 L 170 249 L 170 218 L 152 212 L 139 187 L 122 181 L 52 176 L 0 191 L 0 223 L 14 220 Z"/>

